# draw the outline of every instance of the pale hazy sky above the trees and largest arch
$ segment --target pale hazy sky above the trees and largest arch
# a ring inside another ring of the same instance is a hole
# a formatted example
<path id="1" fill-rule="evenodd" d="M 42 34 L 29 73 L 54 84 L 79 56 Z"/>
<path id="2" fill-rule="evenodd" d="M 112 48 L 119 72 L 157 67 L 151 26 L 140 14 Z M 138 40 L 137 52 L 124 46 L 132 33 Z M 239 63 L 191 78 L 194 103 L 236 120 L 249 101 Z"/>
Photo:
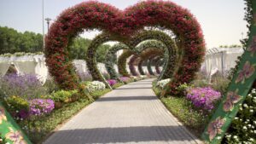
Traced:
<path id="1" fill-rule="evenodd" d="M 42 33 L 43 0 L 1 0 L 0 26 L 9 26 L 19 32 Z M 119 9 L 137 3 L 137 0 L 99 0 Z M 44 18 L 56 19 L 62 10 L 83 0 L 44 0 Z M 245 7 L 243 0 L 172 0 L 195 15 L 201 23 L 207 48 L 224 44 L 240 44 L 241 32 L 246 35 L 246 21 L 243 20 Z M 44 21 L 45 32 L 47 32 Z M 92 38 L 97 32 L 86 32 L 83 37 Z"/>

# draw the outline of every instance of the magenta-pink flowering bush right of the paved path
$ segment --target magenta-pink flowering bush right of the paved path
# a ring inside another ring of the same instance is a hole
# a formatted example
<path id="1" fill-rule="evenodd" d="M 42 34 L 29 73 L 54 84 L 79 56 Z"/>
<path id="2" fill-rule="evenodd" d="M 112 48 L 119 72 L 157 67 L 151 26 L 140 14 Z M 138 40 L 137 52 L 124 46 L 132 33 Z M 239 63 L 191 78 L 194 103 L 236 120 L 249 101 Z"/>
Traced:
<path id="1" fill-rule="evenodd" d="M 187 93 L 187 99 L 192 102 L 195 108 L 203 112 L 211 112 L 217 101 L 221 98 L 220 92 L 210 87 L 191 88 L 187 90 Z"/>

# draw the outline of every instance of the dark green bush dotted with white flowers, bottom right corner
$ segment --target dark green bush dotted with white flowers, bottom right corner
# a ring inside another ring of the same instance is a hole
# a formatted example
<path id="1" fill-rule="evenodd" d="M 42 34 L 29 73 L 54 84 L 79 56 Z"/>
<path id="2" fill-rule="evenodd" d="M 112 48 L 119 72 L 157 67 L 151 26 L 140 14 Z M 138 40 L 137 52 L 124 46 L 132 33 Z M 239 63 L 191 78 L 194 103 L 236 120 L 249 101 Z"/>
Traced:
<path id="1" fill-rule="evenodd" d="M 222 143 L 255 143 L 256 137 L 256 89 L 247 95 L 240 105 L 236 118 L 226 132 Z"/>

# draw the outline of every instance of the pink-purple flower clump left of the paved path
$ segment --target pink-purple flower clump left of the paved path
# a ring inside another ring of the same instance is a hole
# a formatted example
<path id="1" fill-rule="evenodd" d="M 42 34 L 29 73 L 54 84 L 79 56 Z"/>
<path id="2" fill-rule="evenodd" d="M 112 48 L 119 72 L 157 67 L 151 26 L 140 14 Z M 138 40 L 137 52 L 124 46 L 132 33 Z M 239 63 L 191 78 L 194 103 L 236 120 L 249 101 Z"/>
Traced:
<path id="1" fill-rule="evenodd" d="M 29 114 L 40 116 L 51 112 L 55 108 L 54 101 L 50 99 L 33 99 L 29 101 Z"/>

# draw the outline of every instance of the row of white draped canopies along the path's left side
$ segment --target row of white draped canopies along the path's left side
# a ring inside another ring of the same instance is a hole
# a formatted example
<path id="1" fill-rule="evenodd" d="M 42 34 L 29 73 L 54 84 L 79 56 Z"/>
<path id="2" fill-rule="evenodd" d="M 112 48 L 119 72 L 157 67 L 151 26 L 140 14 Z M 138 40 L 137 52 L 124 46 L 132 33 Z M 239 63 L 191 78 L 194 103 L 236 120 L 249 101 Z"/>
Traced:
<path id="1" fill-rule="evenodd" d="M 8 72 L 10 66 L 15 66 L 17 74 L 20 75 L 35 74 L 43 84 L 49 77 L 48 67 L 45 64 L 43 54 L 0 55 L 0 77 L 3 77 L 6 72 Z M 80 74 L 90 76 L 85 60 L 73 60 L 73 66 Z M 97 66 L 102 73 L 108 73 L 104 64 L 98 63 Z M 118 67 L 116 65 L 114 68 L 118 72 Z M 130 72 L 128 65 L 127 70 Z M 143 66 L 143 70 L 148 72 L 147 66 Z"/>

